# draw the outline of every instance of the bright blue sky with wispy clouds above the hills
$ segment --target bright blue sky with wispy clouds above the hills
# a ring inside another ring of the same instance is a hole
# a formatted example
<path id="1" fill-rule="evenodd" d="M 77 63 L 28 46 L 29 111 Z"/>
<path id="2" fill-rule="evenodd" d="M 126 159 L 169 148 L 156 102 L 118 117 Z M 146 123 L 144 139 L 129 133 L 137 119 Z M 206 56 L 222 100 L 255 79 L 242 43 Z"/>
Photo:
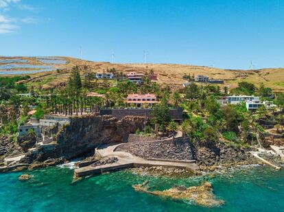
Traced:
<path id="1" fill-rule="evenodd" d="M 283 0 L 0 0 L 0 55 L 284 67 Z"/>

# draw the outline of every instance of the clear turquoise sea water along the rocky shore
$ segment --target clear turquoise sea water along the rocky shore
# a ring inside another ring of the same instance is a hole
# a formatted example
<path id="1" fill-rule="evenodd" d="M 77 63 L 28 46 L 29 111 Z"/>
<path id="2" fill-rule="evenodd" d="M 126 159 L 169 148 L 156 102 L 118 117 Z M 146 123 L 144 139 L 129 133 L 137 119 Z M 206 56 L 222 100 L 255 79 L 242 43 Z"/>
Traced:
<path id="1" fill-rule="evenodd" d="M 141 177 L 121 171 L 75 184 L 71 184 L 73 170 L 68 168 L 24 173 L 34 178 L 19 181 L 22 172 L 0 174 L 1 211 L 284 211 L 284 171 L 263 167 L 215 178 Z M 200 185 L 207 180 L 213 184 L 214 194 L 226 203 L 209 209 L 132 189 L 133 184 L 145 180 L 155 190 Z"/>

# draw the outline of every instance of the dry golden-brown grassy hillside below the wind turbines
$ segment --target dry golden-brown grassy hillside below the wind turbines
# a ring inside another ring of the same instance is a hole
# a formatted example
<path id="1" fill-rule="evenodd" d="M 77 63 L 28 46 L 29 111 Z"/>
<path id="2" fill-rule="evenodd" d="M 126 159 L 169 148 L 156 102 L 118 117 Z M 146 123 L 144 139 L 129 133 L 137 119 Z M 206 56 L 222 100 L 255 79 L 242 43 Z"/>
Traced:
<path id="1" fill-rule="evenodd" d="M 7 57 L 6 57 L 7 58 Z M 12 57 L 10 57 L 12 58 Z M 19 57 L 16 57 L 19 58 Z M 75 65 L 80 69 L 88 72 L 106 72 L 110 68 L 115 68 L 119 72 L 128 73 L 147 72 L 151 69 L 158 75 L 158 83 L 166 83 L 173 88 L 179 88 L 186 81 L 182 76 L 187 75 L 208 75 L 213 79 L 224 79 L 224 85 L 229 88 L 235 88 L 239 81 L 248 81 L 259 85 L 261 82 L 266 87 L 272 88 L 276 92 L 284 92 L 284 68 L 265 68 L 260 70 L 225 70 L 220 68 L 210 68 L 206 66 L 190 66 L 179 64 L 110 64 L 109 62 L 91 62 L 71 57 L 61 57 L 67 61 L 67 64 L 55 64 L 55 68 L 59 68 L 60 72 L 40 72 L 31 74 L 31 77 L 37 77 L 29 82 L 32 84 L 40 84 L 44 89 L 62 85 L 67 81 L 71 68 Z M 1 59 L 1 58 L 0 58 Z M 30 64 L 42 64 L 34 57 L 21 57 L 21 59 L 29 60 Z M 222 86 L 224 86 L 222 85 Z"/>

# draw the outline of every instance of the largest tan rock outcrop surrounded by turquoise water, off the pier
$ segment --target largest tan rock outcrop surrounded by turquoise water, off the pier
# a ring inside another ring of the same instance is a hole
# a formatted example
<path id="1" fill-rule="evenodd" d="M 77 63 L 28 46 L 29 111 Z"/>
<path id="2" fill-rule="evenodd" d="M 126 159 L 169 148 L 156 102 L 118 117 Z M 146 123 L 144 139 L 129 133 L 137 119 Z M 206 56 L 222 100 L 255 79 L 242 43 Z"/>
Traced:
<path id="1" fill-rule="evenodd" d="M 148 187 L 145 187 L 147 183 L 132 185 L 135 191 L 142 191 L 147 194 L 155 196 L 169 197 L 174 200 L 191 200 L 196 204 L 203 207 L 218 207 L 224 204 L 224 200 L 218 200 L 213 194 L 212 185 L 209 182 L 204 182 L 200 186 L 193 187 L 172 187 L 164 191 L 149 191 Z"/>

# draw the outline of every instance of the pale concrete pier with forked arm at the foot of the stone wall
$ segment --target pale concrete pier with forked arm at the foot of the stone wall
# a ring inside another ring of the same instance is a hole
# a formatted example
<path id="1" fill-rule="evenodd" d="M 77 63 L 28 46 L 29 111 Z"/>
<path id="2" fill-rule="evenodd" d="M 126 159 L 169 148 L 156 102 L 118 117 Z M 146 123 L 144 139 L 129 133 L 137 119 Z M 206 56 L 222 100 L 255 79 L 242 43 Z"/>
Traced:
<path id="1" fill-rule="evenodd" d="M 102 159 L 108 159 L 110 157 L 117 157 L 119 160 L 115 163 L 106 165 L 88 165 L 82 168 L 75 169 L 75 176 L 88 176 L 93 174 L 102 174 L 103 172 L 122 170 L 125 168 L 134 167 L 149 167 L 149 166 L 164 166 L 167 168 L 180 168 L 190 170 L 195 173 L 199 170 L 195 161 L 177 161 L 170 159 L 143 159 L 136 157 L 130 153 L 121 151 L 115 151 L 115 149 L 121 144 L 111 146 L 101 146 L 95 150 L 96 154 Z"/>

